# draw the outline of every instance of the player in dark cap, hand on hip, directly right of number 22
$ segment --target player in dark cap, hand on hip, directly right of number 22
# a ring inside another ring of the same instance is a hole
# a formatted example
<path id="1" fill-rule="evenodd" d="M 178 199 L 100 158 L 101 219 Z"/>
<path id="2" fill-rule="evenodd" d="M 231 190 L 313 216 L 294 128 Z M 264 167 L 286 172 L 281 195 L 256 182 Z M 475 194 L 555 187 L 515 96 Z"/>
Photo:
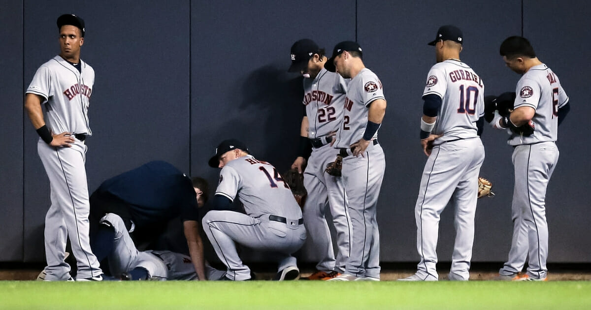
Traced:
<path id="1" fill-rule="evenodd" d="M 351 79 L 335 148 L 343 157 L 342 178 L 352 223 L 345 273 L 330 280 L 379 280 L 379 231 L 376 205 L 386 162 L 378 129 L 386 112 L 382 82 L 363 65 L 359 44 L 337 44 L 324 68 Z"/>

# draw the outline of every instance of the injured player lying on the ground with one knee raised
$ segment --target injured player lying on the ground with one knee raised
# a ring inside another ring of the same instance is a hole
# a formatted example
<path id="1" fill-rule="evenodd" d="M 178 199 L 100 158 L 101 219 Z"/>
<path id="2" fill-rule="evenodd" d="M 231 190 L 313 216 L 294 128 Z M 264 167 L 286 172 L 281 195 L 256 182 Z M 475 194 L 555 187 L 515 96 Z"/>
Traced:
<path id="1" fill-rule="evenodd" d="M 129 236 L 124 220 L 114 213 L 100 219 L 100 224 L 115 231 L 113 249 L 109 253 L 111 274 L 121 280 L 198 280 L 191 257 L 171 251 L 139 252 Z M 226 272 L 205 265 L 209 280 L 219 280 Z"/>

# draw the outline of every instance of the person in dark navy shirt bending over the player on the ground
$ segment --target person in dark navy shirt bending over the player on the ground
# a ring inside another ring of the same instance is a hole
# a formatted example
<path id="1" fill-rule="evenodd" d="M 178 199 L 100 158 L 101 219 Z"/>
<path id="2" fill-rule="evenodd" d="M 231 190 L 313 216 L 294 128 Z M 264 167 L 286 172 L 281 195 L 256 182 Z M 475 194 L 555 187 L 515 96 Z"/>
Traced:
<path id="1" fill-rule="evenodd" d="M 112 227 L 99 224 L 105 214 L 118 214 L 134 233 L 137 244 L 142 239 L 151 243 L 163 233 L 168 221 L 180 216 L 194 269 L 200 280 L 206 280 L 197 211 L 199 200 L 206 199 L 207 184 L 203 181 L 194 178 L 191 182 L 168 162 L 151 161 L 100 184 L 90 195 L 92 249 L 99 261 L 111 253 L 116 233 Z"/>

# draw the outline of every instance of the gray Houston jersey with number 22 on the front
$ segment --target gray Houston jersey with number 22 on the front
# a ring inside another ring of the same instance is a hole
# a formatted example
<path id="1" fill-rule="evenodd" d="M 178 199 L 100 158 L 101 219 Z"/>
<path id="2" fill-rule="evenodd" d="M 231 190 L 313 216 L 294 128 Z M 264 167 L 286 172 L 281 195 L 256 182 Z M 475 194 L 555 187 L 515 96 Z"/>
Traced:
<path id="1" fill-rule="evenodd" d="M 343 119 L 343 100 L 347 81 L 340 74 L 322 68 L 315 79 L 304 79 L 308 138 L 320 138 L 339 130 Z"/>

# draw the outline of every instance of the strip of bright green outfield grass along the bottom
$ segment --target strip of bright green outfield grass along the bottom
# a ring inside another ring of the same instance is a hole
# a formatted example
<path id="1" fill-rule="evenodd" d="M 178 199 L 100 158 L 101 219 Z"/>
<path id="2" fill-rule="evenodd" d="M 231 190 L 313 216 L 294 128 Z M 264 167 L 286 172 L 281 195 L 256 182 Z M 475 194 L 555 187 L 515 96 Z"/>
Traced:
<path id="1" fill-rule="evenodd" d="M 591 309 L 591 282 L 0 282 L 0 309 Z"/>

